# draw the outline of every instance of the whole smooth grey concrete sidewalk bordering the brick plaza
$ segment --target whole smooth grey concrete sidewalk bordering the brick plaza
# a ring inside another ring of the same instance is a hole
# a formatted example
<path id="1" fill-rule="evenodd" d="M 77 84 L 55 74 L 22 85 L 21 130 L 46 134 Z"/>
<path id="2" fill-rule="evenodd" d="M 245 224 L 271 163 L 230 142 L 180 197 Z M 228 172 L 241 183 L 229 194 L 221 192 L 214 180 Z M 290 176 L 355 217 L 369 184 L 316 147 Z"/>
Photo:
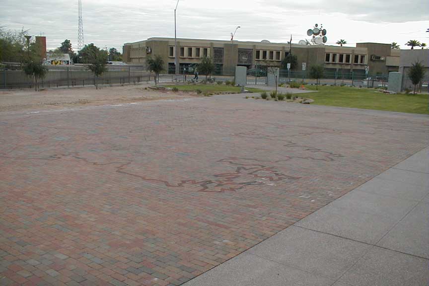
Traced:
<path id="1" fill-rule="evenodd" d="M 185 286 L 428 286 L 429 147 Z"/>

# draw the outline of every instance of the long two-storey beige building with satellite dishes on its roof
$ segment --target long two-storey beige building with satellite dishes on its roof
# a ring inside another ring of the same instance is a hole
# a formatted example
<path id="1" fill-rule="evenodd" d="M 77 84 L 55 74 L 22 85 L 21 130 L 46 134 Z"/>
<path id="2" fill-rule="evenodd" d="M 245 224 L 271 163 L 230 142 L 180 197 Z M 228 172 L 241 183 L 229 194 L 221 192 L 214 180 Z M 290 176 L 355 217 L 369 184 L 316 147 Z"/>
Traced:
<path id="1" fill-rule="evenodd" d="M 398 71 L 400 50 L 391 50 L 389 44 L 360 43 L 356 47 L 324 45 L 298 45 L 287 43 L 239 42 L 199 39 L 177 39 L 181 73 L 198 64 L 203 57 L 213 59 L 217 72 L 232 73 L 235 66 L 249 69 L 257 66 L 281 66 L 282 60 L 292 52 L 297 56 L 297 71 L 306 66 L 324 65 L 326 71 L 344 71 L 365 74 L 387 74 Z M 291 51 L 290 51 L 291 50 Z M 128 64 L 145 65 L 148 56 L 159 55 L 165 63 L 164 69 L 174 73 L 174 38 L 149 38 L 144 41 L 126 43 L 123 61 Z"/>

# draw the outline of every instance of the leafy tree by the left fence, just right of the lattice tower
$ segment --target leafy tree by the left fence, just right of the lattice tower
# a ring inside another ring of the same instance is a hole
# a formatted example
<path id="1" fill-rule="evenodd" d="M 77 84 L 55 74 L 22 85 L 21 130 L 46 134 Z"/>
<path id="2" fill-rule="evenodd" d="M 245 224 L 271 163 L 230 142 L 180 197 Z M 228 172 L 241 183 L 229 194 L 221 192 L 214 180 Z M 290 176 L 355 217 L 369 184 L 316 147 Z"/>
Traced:
<path id="1" fill-rule="evenodd" d="M 85 45 L 85 47 L 79 51 L 79 55 L 81 55 L 82 62 L 88 64 L 88 69 L 94 73 L 96 78 L 107 70 L 107 53 L 106 51 L 100 50 L 100 48 L 94 44 Z M 94 85 L 98 88 L 95 82 L 94 79 Z"/>

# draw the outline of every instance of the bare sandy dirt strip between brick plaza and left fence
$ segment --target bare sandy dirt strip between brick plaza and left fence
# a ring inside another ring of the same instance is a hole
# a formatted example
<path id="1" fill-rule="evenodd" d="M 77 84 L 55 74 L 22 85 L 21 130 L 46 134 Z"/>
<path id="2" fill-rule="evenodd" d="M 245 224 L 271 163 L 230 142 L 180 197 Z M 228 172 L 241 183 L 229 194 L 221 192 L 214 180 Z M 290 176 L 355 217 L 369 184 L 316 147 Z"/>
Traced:
<path id="1" fill-rule="evenodd" d="M 114 87 L 94 86 L 34 90 L 0 91 L 0 112 L 31 109 L 56 109 L 79 105 L 109 105 L 144 100 L 192 97 L 192 93 L 151 90 L 145 85 Z M 147 89 L 146 89 L 147 88 Z"/>

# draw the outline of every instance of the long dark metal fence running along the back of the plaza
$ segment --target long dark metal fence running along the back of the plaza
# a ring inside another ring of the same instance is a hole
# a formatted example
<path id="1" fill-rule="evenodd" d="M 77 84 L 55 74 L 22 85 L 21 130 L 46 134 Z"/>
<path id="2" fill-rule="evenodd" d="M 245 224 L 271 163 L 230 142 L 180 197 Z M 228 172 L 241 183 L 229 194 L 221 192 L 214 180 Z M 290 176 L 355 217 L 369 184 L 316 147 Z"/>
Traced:
<path id="1" fill-rule="evenodd" d="M 107 71 L 101 76 L 95 77 L 86 66 L 47 66 L 48 72 L 43 78 L 38 80 L 40 88 L 49 87 L 73 87 L 95 84 L 130 84 L 140 82 L 150 82 L 154 80 L 155 74 L 146 71 L 143 66 L 108 66 Z M 211 75 L 212 82 L 233 82 L 234 73 L 224 72 Z M 198 81 L 204 81 L 205 75 L 200 74 Z M 383 87 L 387 85 L 387 75 L 368 75 L 364 72 L 332 72 L 325 71 L 320 79 L 321 84 L 353 85 Z M 159 75 L 159 82 L 188 82 L 197 81 L 194 74 L 169 74 Z M 316 83 L 310 78 L 308 71 L 280 71 L 280 83 L 289 81 Z M 247 84 L 267 84 L 266 72 L 249 70 L 247 73 Z M 35 82 L 32 77 L 25 75 L 20 66 L 5 66 L 0 70 L 0 88 L 34 88 Z"/>

